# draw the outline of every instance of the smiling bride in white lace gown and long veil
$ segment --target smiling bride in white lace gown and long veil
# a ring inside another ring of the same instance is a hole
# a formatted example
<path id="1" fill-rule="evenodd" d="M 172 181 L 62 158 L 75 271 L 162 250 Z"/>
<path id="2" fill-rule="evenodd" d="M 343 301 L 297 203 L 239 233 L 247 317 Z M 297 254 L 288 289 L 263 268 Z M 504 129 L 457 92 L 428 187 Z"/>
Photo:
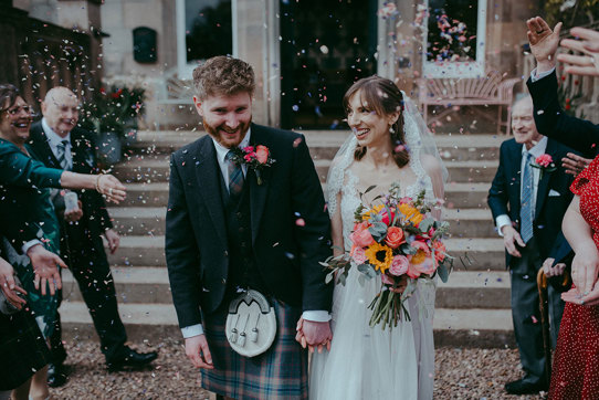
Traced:
<path id="1" fill-rule="evenodd" d="M 443 198 L 445 169 L 418 109 L 393 82 L 370 76 L 345 94 L 344 107 L 353 135 L 333 160 L 327 179 L 335 255 L 349 251 L 354 212 L 372 203 L 399 182 L 401 196 Z M 372 185 L 376 188 L 360 193 Z M 441 211 L 437 208 L 434 218 Z M 380 276 L 359 282 L 351 269 L 333 297 L 330 351 L 315 352 L 309 377 L 311 399 L 432 399 L 434 345 L 432 317 L 435 284 L 418 281 L 408 299 L 411 322 L 392 329 L 369 326 L 369 302 Z"/>

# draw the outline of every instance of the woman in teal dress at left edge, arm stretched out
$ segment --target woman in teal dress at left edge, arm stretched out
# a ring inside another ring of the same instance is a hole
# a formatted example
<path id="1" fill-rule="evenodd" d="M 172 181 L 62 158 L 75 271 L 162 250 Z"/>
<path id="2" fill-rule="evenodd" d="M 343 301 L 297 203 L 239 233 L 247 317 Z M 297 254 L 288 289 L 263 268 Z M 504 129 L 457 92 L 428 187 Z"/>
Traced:
<path id="1" fill-rule="evenodd" d="M 2 214 L 28 215 L 32 227 L 36 227 L 43 235 L 43 245 L 51 252 L 59 253 L 59 224 L 50 202 L 48 187 L 86 188 L 106 190 L 108 197 L 118 201 L 124 199 L 124 187 L 111 176 L 83 176 L 81 173 L 63 173 L 62 170 L 49 169 L 33 160 L 31 149 L 25 146 L 29 139 L 31 112 L 18 88 L 10 84 L 0 85 L 0 198 Z M 45 338 L 55 325 L 56 296 L 55 286 L 60 288 L 60 274 L 40 276 L 39 269 L 27 257 L 19 257 L 19 248 L 14 242 L 4 242 L 3 251 L 17 267 L 18 275 L 28 292 L 30 307 L 35 313 L 36 322 Z M 29 248 L 41 246 L 39 240 L 28 242 L 22 252 L 29 254 Z M 33 261 L 33 260 L 31 260 Z M 62 264 L 64 264 L 61 261 Z M 55 270 L 55 267 L 54 267 Z M 52 284 L 55 280 L 56 283 Z M 50 295 L 45 295 L 50 286 Z M 32 379 L 32 391 L 45 398 L 48 396 L 46 370 L 35 372 Z"/>

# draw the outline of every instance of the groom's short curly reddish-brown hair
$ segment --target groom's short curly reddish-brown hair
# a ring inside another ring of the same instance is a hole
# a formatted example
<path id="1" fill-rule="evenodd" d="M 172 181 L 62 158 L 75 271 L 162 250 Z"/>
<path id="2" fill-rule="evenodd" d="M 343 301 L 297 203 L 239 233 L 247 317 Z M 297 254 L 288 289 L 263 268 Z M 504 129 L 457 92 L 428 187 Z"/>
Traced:
<path id="1" fill-rule="evenodd" d="M 241 92 L 252 96 L 255 88 L 254 70 L 245 61 L 218 55 L 193 70 L 193 86 L 200 99 Z"/>

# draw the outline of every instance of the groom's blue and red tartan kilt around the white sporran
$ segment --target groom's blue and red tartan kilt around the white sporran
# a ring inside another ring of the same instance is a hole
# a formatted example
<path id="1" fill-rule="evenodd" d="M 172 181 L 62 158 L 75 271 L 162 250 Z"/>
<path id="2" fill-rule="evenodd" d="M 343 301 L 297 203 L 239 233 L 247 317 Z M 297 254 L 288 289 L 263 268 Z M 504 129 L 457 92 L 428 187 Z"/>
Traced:
<path id="1" fill-rule="evenodd" d="M 277 331 L 270 349 L 252 358 L 231 349 L 224 334 L 229 303 L 204 315 L 213 370 L 201 370 L 201 387 L 233 399 L 307 399 L 307 351 L 295 341 L 302 310 L 270 298 Z"/>

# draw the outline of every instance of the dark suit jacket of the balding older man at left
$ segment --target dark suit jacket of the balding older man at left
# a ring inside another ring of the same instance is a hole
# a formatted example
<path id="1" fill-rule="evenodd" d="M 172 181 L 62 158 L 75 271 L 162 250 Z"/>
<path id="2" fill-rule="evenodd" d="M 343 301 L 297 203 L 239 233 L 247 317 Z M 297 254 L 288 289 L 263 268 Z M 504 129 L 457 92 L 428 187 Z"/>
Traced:
<path id="1" fill-rule="evenodd" d="M 46 167 L 62 169 L 59 160 L 54 157 L 48 137 L 42 129 L 41 122 L 31 126 L 30 146 L 35 151 Z M 71 150 L 73 155 L 73 172 L 80 173 L 98 173 L 97 160 L 95 155 L 95 144 L 92 134 L 81 128 L 74 128 L 71 131 Z M 99 235 L 105 230 L 113 228 L 111 217 L 106 210 L 106 202 L 102 194 L 95 190 L 76 190 L 77 197 L 82 202 L 83 217 L 78 221 L 78 225 L 88 229 L 92 235 Z M 62 213 L 64 212 L 64 200 L 62 196 L 56 196 L 54 199 L 54 208 L 59 213 L 59 220 L 64 221 Z M 69 232 L 65 232 L 69 233 Z M 69 235 L 69 241 L 77 241 L 83 238 Z"/>

